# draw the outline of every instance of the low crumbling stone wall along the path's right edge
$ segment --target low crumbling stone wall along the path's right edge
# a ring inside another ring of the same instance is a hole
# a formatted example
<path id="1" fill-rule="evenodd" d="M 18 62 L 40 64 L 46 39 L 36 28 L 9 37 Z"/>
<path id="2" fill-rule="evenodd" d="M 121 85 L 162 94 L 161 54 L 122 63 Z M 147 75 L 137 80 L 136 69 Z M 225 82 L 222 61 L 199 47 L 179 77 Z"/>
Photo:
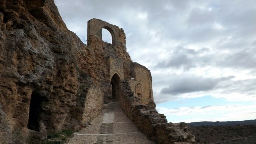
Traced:
<path id="1" fill-rule="evenodd" d="M 139 98 L 134 97 L 128 80 L 123 80 L 120 86 L 122 110 L 150 140 L 157 144 L 197 143 L 195 137 L 188 132 L 188 124 L 167 123 L 166 116 L 158 114 L 153 101 L 147 105 L 140 104 Z"/>

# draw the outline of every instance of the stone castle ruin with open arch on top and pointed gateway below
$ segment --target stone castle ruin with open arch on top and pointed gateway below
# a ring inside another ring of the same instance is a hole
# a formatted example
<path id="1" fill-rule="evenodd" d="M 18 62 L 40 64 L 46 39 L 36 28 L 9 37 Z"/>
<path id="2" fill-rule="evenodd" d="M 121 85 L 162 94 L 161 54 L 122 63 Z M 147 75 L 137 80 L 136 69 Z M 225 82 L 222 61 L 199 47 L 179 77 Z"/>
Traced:
<path id="1" fill-rule="evenodd" d="M 101 70 L 104 82 L 109 83 L 108 90 L 105 91 L 104 100 L 120 100 L 121 88 L 119 83 L 128 80 L 135 97 L 140 98 L 141 104 L 148 104 L 153 101 L 152 77 L 150 71 L 140 64 L 132 62 L 126 52 L 125 33 L 118 26 L 111 25 L 100 19 L 88 21 L 87 42 L 88 47 L 97 47 L 92 39 L 102 39 L 102 29 L 109 30 L 112 36 L 112 44 L 104 43 L 102 48 L 106 65 L 105 71 Z"/>

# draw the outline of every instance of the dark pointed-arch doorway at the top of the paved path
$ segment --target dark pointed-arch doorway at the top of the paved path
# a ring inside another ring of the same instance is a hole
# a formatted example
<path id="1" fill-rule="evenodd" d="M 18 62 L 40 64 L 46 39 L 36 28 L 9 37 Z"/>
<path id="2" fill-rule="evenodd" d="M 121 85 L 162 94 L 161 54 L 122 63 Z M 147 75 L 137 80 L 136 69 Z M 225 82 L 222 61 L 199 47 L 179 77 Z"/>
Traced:
<path id="1" fill-rule="evenodd" d="M 119 100 L 120 97 L 120 86 L 119 86 L 120 78 L 115 73 L 111 78 L 111 87 L 112 87 L 112 98 L 115 100 Z"/>

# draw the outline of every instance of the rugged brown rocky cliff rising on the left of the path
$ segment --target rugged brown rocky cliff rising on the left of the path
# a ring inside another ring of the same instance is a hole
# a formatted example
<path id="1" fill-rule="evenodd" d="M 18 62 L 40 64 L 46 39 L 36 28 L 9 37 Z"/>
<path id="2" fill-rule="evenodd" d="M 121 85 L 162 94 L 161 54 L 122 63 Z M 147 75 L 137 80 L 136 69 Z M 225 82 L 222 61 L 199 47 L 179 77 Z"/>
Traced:
<path id="1" fill-rule="evenodd" d="M 0 25 L 0 140 L 82 126 L 77 97 L 93 84 L 79 60 L 86 45 L 67 29 L 53 0 L 1 0 Z"/>

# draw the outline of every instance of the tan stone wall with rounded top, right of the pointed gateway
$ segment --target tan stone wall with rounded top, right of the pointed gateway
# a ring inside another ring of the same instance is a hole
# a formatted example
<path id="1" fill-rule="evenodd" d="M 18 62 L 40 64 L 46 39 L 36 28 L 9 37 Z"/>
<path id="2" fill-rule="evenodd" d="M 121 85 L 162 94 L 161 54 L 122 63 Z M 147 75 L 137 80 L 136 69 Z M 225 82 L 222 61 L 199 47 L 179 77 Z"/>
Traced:
<path id="1" fill-rule="evenodd" d="M 135 96 L 140 97 L 142 104 L 153 101 L 152 77 L 149 69 L 136 62 L 132 63 L 132 77 L 136 82 L 131 83 Z"/>

